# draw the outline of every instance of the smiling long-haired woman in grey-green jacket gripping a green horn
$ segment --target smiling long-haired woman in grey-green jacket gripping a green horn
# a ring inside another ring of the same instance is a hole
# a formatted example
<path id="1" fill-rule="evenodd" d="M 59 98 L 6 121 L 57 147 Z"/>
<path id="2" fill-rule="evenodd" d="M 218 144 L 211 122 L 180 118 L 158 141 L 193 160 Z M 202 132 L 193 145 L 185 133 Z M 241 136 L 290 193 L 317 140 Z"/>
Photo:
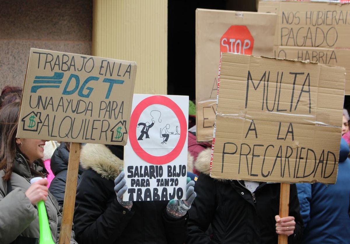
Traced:
<path id="1" fill-rule="evenodd" d="M 41 160 L 46 141 L 16 138 L 18 115 L 19 102 L 0 110 L 0 243 L 36 243 L 40 229 L 35 205 L 41 200 L 56 241 L 61 214 L 48 192 L 48 181 L 44 178 L 30 184 L 30 179 L 47 175 Z M 76 242 L 72 239 L 71 243 Z"/>

